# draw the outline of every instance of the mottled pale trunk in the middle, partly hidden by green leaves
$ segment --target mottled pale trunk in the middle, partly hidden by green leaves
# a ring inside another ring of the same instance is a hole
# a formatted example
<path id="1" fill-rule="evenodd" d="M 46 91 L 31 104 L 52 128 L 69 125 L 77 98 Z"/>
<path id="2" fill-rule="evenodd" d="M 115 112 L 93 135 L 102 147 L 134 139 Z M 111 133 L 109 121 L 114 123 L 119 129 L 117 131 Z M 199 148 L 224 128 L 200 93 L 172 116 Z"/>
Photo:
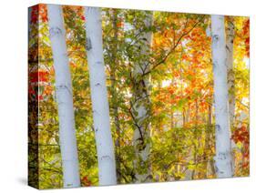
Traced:
<path id="1" fill-rule="evenodd" d="M 145 18 L 145 26 L 149 27 L 153 22 L 153 13 L 148 14 Z M 141 39 L 145 41 L 145 45 L 141 46 L 140 53 L 142 56 L 146 56 L 148 49 L 152 44 L 152 32 L 144 33 Z M 149 151 L 150 151 L 150 123 L 148 117 L 150 114 L 150 100 L 148 98 L 148 76 L 143 76 L 145 72 L 149 70 L 148 61 L 143 64 L 136 64 L 134 69 L 134 104 L 133 117 L 135 122 L 135 130 L 133 136 L 133 144 L 135 148 L 136 159 L 134 161 L 134 169 L 136 176 L 136 183 L 150 182 L 152 179 L 151 169 L 149 163 Z"/>

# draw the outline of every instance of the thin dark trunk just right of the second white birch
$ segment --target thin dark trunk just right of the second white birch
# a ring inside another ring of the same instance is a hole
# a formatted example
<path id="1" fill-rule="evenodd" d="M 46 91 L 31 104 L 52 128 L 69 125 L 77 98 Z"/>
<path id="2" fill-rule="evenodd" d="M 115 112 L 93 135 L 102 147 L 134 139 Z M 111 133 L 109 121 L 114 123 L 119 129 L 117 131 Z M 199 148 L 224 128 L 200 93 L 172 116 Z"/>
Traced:
<path id="1" fill-rule="evenodd" d="M 112 14 L 112 25 L 114 30 L 114 37 L 113 37 L 113 47 L 111 48 L 111 57 L 112 57 L 112 64 L 110 65 L 110 79 L 111 79 L 111 95 L 112 95 L 112 108 L 114 114 L 114 124 L 116 127 L 117 138 L 115 141 L 116 145 L 116 168 L 117 168 L 117 182 L 118 184 L 121 181 L 121 168 L 120 168 L 120 123 L 118 117 L 118 90 L 117 90 L 117 80 L 116 80 L 116 69 L 118 64 L 118 13 L 116 9 L 113 9 Z"/>

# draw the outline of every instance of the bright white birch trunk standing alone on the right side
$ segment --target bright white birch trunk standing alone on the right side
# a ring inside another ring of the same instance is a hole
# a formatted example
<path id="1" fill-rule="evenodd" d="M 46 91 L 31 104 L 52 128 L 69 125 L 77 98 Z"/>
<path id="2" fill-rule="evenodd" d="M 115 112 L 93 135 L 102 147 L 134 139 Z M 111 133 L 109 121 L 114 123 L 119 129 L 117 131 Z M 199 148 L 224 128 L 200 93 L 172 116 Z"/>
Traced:
<path id="1" fill-rule="evenodd" d="M 211 15 L 211 30 L 216 121 L 216 172 L 218 178 L 230 178 L 232 177 L 232 164 L 224 16 Z"/>

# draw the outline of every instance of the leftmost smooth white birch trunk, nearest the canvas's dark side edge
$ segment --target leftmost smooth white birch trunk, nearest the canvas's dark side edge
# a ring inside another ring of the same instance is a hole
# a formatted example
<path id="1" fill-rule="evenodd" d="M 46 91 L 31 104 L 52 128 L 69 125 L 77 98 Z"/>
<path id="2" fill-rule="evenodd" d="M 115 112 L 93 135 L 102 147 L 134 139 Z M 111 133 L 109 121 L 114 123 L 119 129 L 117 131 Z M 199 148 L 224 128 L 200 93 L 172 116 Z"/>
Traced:
<path id="1" fill-rule="evenodd" d="M 56 76 L 56 101 L 64 188 L 80 187 L 73 93 L 61 5 L 47 5 Z"/>

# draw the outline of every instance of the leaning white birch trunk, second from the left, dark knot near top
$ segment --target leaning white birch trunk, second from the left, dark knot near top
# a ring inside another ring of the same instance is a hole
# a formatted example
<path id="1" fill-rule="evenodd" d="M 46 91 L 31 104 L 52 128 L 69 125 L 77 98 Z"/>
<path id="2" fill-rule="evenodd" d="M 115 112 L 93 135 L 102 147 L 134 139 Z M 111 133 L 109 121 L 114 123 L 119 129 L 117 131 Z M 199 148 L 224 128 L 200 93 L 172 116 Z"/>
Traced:
<path id="1" fill-rule="evenodd" d="M 117 184 L 116 161 L 111 137 L 108 91 L 103 59 L 100 9 L 86 7 L 87 61 L 93 121 L 97 142 L 99 185 Z"/>

